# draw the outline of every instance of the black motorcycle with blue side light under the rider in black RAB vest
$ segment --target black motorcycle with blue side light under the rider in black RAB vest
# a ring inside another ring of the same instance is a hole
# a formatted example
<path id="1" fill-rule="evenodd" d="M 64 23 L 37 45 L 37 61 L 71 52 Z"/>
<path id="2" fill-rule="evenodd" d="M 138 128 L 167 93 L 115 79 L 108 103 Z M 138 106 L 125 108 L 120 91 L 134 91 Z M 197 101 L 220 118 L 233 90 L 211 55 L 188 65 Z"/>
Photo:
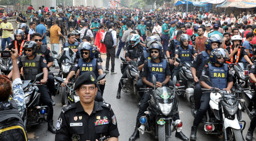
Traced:
<path id="1" fill-rule="evenodd" d="M 39 81 L 43 77 L 43 73 L 37 74 L 36 79 L 23 81 L 23 91 L 26 103 L 26 109 L 22 116 L 25 127 L 29 125 L 44 124 L 48 119 L 48 106 L 42 106 L 40 93 L 37 85 L 43 85 Z M 46 85 L 44 85 L 46 86 Z"/>

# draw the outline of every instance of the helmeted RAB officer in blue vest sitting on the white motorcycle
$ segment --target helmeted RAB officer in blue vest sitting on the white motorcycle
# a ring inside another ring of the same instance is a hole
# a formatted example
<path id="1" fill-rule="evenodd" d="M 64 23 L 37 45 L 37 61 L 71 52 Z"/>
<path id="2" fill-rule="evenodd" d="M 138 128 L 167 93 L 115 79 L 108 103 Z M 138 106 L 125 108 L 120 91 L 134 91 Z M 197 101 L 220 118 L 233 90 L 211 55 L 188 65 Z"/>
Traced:
<path id="1" fill-rule="evenodd" d="M 228 65 L 224 64 L 226 59 L 228 59 L 227 50 L 223 48 L 214 49 L 210 53 L 210 63 L 203 67 L 201 74 L 209 76 L 210 81 L 214 84 L 215 88 L 231 92 L 230 89 L 233 86 L 233 78 L 232 75 L 228 73 Z M 207 89 L 213 88 L 213 85 L 209 81 L 205 80 L 203 77 L 200 78 L 200 85 L 203 88 Z M 204 93 L 201 98 L 200 109 L 196 112 L 193 126 L 191 127 L 190 140 L 196 140 L 197 127 L 202 121 L 204 114 L 210 106 L 209 101 L 210 93 Z"/>

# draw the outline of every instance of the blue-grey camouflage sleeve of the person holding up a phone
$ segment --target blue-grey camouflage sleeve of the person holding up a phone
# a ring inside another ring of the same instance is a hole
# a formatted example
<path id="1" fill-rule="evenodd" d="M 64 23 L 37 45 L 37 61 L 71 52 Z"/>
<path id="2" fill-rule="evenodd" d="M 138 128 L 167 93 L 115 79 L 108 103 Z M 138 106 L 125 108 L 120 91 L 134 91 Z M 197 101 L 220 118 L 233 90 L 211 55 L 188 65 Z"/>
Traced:
<path id="1" fill-rule="evenodd" d="M 22 115 L 26 109 L 24 93 L 22 88 L 22 81 L 20 78 L 16 78 L 12 82 L 13 100 L 17 103 L 19 114 Z M 10 99 L 8 100 L 10 102 Z M 1 105 L 2 102 L 0 102 Z M 4 107 L 10 106 L 10 103 L 5 103 Z"/>

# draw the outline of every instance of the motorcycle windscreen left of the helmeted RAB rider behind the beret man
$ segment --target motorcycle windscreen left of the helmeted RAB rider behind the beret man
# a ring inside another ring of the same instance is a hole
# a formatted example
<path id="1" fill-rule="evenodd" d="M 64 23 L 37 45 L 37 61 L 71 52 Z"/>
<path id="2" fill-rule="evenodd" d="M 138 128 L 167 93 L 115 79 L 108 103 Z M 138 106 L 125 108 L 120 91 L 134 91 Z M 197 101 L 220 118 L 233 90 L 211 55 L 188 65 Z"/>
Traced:
<path id="1" fill-rule="evenodd" d="M 73 63 L 75 53 L 70 48 L 63 48 L 61 55 L 58 56 L 57 59 L 59 59 L 61 63 Z"/>

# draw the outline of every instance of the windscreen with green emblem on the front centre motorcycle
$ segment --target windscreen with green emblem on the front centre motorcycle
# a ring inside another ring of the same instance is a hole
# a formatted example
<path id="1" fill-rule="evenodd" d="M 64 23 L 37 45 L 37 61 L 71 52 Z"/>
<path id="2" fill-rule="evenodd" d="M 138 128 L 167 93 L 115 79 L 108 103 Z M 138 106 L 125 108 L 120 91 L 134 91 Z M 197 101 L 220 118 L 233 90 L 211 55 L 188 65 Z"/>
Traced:
<path id="1" fill-rule="evenodd" d="M 157 88 L 156 90 L 156 100 L 158 103 L 172 103 L 173 91 L 168 87 Z"/>

